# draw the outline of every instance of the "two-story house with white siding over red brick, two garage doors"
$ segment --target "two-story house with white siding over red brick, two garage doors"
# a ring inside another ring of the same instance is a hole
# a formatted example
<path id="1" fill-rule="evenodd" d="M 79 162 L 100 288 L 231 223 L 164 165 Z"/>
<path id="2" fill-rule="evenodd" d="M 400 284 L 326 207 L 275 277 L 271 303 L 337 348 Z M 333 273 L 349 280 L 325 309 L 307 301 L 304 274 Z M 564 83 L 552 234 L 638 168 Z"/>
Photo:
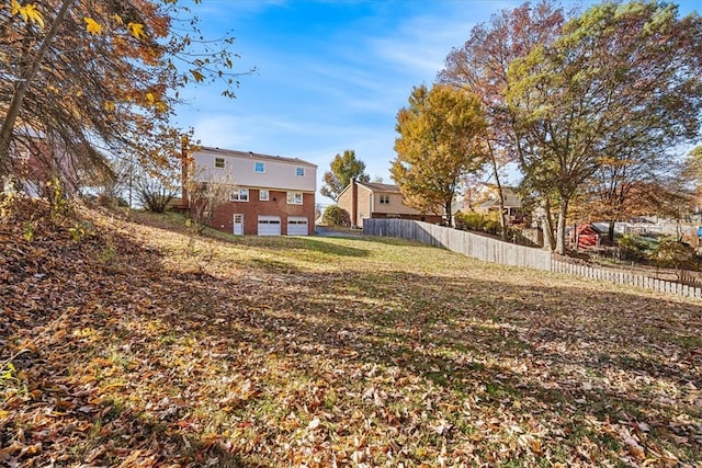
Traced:
<path id="1" fill-rule="evenodd" d="M 308 236 L 315 231 L 317 165 L 296 158 L 200 147 L 190 155 L 200 182 L 231 184 L 211 226 L 237 236 Z"/>

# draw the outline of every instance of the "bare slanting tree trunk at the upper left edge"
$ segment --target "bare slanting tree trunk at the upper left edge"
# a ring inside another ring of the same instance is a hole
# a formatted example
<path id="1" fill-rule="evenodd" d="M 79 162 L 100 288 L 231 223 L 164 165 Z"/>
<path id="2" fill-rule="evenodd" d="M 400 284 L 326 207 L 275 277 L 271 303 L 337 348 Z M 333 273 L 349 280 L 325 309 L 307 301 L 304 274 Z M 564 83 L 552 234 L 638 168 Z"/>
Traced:
<path id="1" fill-rule="evenodd" d="M 9 172 L 10 170 L 10 142 L 12 141 L 12 133 L 14 130 L 14 123 L 20 115 L 20 109 L 22 109 L 22 103 L 24 101 L 24 96 L 26 95 L 27 90 L 30 89 L 30 84 L 36 72 L 39 70 L 42 66 L 42 61 L 44 60 L 44 56 L 46 55 L 46 50 L 48 50 L 49 45 L 54 41 L 54 36 L 56 36 L 56 32 L 58 27 L 64 22 L 64 18 L 68 13 L 68 9 L 75 0 L 64 0 L 61 4 L 61 9 L 56 14 L 56 18 L 52 22 L 52 27 L 48 30 L 46 35 L 44 36 L 44 41 L 42 45 L 36 50 L 36 55 L 34 56 L 30 67 L 19 77 L 16 88 L 14 89 L 14 93 L 12 94 L 12 100 L 10 101 L 10 105 L 8 107 L 8 113 L 2 119 L 2 126 L 0 127 L 0 175 Z"/>

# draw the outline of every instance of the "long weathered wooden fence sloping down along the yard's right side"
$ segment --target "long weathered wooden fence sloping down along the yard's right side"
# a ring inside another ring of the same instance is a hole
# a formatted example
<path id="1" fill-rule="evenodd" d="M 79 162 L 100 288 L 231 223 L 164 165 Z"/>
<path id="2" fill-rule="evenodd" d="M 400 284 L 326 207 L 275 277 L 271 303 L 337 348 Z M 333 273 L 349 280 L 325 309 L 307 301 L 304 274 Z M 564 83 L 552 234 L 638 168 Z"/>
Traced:
<path id="1" fill-rule="evenodd" d="M 408 219 L 364 219 L 365 236 L 397 237 L 441 247 L 485 262 L 565 273 L 610 283 L 702 298 L 702 288 L 630 272 L 576 265 L 552 258 L 551 252 L 502 242 L 485 236 Z"/>

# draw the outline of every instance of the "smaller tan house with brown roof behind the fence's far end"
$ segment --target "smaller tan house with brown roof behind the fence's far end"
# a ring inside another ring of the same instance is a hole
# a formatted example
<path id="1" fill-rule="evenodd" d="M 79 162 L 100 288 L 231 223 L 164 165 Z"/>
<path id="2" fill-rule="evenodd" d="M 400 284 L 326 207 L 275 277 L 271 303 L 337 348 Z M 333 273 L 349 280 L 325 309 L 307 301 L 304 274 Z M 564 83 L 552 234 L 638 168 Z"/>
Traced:
<path id="1" fill-rule="evenodd" d="M 441 222 L 441 216 L 421 213 L 405 205 L 397 185 L 375 184 L 352 180 L 338 201 L 339 207 L 349 212 L 351 225 L 363 227 L 367 218 L 401 218 L 427 222 Z"/>

